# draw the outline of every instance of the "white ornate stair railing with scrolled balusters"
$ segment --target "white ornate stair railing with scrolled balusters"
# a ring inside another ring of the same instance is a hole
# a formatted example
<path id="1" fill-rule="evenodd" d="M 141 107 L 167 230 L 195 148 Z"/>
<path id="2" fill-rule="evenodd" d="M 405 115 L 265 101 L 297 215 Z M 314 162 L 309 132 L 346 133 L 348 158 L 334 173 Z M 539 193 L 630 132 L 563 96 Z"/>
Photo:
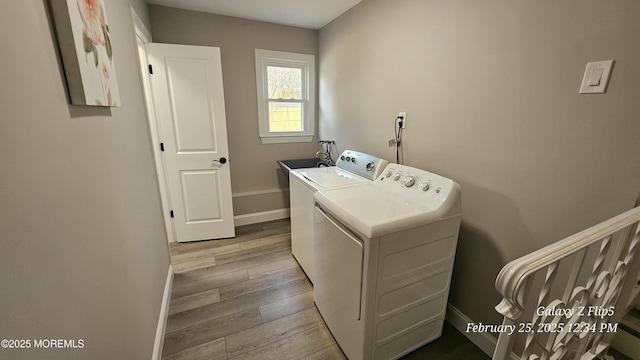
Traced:
<path id="1" fill-rule="evenodd" d="M 502 268 L 496 289 L 503 299 L 496 310 L 504 321 L 493 359 L 606 354 L 640 264 L 633 261 L 639 222 L 636 207 Z"/>

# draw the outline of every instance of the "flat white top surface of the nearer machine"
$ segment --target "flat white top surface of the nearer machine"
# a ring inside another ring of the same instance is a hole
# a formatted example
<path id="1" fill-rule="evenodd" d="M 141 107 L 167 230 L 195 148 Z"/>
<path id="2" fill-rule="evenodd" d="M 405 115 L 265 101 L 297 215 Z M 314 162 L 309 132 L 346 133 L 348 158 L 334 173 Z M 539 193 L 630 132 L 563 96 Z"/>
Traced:
<path id="1" fill-rule="evenodd" d="M 371 183 L 316 192 L 314 198 L 322 208 L 368 238 L 440 219 L 429 204 L 409 202 Z"/>

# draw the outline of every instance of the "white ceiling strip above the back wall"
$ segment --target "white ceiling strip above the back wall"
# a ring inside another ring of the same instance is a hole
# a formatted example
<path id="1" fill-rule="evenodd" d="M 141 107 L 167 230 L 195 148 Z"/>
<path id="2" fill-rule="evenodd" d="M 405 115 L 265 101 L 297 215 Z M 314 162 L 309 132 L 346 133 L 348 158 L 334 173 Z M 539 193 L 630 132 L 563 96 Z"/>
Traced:
<path id="1" fill-rule="evenodd" d="M 147 0 L 150 4 L 320 29 L 362 0 Z"/>

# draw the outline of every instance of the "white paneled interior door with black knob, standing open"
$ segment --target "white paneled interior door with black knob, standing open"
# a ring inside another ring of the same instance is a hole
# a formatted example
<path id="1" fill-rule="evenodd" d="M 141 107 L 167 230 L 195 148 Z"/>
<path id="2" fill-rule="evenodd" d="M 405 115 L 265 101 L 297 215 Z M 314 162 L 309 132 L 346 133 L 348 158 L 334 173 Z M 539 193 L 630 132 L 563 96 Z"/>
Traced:
<path id="1" fill-rule="evenodd" d="M 157 43 L 146 49 L 174 238 L 233 237 L 220 49 Z"/>

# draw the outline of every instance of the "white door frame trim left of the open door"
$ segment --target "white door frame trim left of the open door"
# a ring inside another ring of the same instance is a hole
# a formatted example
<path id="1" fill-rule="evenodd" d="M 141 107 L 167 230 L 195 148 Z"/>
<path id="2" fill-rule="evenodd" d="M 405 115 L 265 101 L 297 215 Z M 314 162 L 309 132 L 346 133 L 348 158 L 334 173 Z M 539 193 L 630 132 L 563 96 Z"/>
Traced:
<path id="1" fill-rule="evenodd" d="M 165 231 L 167 233 L 167 241 L 169 243 L 176 242 L 176 232 L 173 226 L 173 220 L 171 219 L 171 204 L 169 203 L 169 197 L 167 194 L 167 182 L 164 169 L 164 163 L 162 159 L 162 152 L 160 151 L 160 143 L 162 139 L 158 131 L 159 124 L 157 117 L 155 116 L 155 110 L 153 106 L 153 97 L 151 93 L 151 83 L 149 80 L 149 62 L 147 61 L 147 52 L 144 44 L 148 44 L 152 41 L 151 33 L 147 30 L 146 26 L 136 14 L 135 10 L 131 8 L 131 18 L 133 19 L 133 27 L 135 31 L 136 49 L 138 52 L 138 70 L 140 74 L 140 83 L 142 84 L 142 94 L 145 104 L 145 112 L 147 117 L 147 123 L 149 124 L 149 140 L 151 150 L 153 152 L 153 159 L 156 167 L 156 176 L 158 178 L 158 192 L 160 194 L 160 202 L 162 205 L 162 217 L 164 219 Z M 143 46 L 139 46 L 142 43 Z"/>

